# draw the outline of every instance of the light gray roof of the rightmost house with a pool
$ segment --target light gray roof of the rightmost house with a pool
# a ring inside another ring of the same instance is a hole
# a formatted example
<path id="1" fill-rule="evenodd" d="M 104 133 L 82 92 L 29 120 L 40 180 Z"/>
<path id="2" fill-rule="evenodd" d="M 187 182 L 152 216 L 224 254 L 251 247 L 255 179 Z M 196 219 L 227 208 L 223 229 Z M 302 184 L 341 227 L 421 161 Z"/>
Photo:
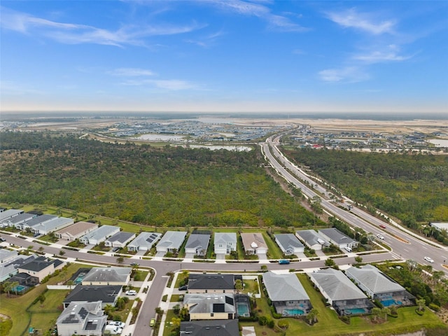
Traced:
<path id="1" fill-rule="evenodd" d="M 356 279 L 362 283 L 366 288 L 372 290 L 373 293 L 393 292 L 398 290 L 405 290 L 398 283 L 388 279 L 382 272 L 372 265 L 364 265 L 361 268 L 350 267 L 346 271 L 349 278 Z"/>

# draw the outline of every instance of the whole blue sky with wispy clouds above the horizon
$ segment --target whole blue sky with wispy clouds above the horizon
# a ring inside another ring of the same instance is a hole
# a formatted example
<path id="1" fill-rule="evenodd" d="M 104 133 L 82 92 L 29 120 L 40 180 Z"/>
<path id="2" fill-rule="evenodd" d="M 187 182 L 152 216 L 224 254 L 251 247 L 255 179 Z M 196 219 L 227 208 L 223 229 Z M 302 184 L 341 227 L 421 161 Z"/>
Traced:
<path id="1" fill-rule="evenodd" d="M 1 1 L 2 111 L 447 112 L 447 1 Z"/>

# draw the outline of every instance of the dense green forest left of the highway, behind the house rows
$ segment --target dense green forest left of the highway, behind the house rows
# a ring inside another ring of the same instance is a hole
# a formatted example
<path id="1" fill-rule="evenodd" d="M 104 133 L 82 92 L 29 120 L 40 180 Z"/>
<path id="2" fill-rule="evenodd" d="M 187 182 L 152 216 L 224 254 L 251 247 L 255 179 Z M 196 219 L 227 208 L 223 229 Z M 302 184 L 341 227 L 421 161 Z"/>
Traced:
<path id="1" fill-rule="evenodd" d="M 160 148 L 35 132 L 0 135 L 1 202 L 51 204 L 163 226 L 316 222 L 266 173 L 258 149 Z"/>

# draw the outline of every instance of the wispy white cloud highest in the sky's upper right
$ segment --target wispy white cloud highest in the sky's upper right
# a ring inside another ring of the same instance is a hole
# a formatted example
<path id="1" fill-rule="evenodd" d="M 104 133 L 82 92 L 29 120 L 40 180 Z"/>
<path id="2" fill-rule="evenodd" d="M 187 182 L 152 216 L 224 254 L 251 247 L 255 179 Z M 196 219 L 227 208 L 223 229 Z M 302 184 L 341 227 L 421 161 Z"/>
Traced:
<path id="1" fill-rule="evenodd" d="M 395 27 L 395 20 L 375 21 L 371 14 L 358 13 L 355 8 L 339 13 L 327 13 L 327 18 L 342 27 L 354 28 L 374 35 L 393 34 Z"/>

